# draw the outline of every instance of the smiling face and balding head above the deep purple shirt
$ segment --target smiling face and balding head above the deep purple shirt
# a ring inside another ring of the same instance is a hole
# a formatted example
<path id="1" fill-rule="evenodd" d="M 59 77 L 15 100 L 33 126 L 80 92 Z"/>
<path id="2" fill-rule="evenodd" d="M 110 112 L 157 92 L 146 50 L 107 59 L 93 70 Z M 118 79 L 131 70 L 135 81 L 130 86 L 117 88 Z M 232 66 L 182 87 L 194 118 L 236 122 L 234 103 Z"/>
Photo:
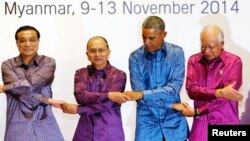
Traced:
<path id="1" fill-rule="evenodd" d="M 89 61 L 97 70 L 103 69 L 108 62 L 110 50 L 107 42 L 101 37 L 94 37 L 88 42 L 87 52 Z"/>

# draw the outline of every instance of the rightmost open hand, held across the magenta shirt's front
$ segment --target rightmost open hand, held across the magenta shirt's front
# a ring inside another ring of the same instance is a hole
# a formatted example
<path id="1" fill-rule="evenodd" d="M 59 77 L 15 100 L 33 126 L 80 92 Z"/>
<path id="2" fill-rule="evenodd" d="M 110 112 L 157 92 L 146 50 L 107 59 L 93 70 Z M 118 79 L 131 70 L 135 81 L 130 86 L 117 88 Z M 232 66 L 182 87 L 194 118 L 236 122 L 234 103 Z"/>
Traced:
<path id="1" fill-rule="evenodd" d="M 235 90 L 233 87 L 236 84 L 236 82 L 222 88 L 222 89 L 217 89 L 215 92 L 216 97 L 222 97 L 227 100 L 232 100 L 232 101 L 242 101 L 243 95 Z"/>

